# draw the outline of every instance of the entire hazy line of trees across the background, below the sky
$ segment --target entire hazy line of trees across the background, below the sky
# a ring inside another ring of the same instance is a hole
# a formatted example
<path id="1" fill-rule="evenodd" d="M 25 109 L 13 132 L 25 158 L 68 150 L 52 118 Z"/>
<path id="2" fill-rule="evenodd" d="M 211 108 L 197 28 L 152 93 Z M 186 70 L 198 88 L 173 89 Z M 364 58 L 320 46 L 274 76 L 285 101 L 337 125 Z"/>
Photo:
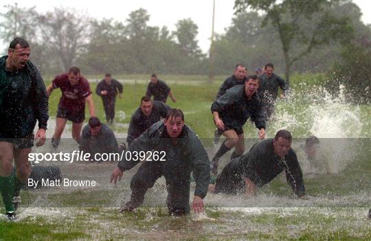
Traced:
<path id="1" fill-rule="evenodd" d="M 5 43 L 14 36 L 30 41 L 33 61 L 44 73 L 60 73 L 72 65 L 89 74 L 209 73 L 209 55 L 198 45 L 192 19 L 180 19 L 170 32 L 167 26 L 148 25 L 150 14 L 143 8 L 124 22 L 93 19 L 71 8 L 43 14 L 35 7 L 6 9 L 1 38 Z M 358 85 L 370 89 L 371 27 L 361 21 L 355 3 L 237 0 L 234 9 L 231 25 L 214 40 L 214 75 L 231 74 L 236 63 L 251 73 L 273 62 L 286 80 L 294 71 L 328 73 L 330 85 L 357 78 Z M 368 71 L 354 71 L 360 67 L 356 64 Z"/>

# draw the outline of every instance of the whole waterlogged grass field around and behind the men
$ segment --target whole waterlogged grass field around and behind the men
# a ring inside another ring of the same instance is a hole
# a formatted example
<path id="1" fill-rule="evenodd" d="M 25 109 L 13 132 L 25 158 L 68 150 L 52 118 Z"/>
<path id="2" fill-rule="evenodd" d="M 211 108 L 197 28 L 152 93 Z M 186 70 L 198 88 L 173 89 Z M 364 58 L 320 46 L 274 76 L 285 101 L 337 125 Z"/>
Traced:
<path id="1" fill-rule="evenodd" d="M 130 179 L 139 165 L 113 186 L 109 176 L 116 163 L 58 162 L 52 164 L 60 167 L 63 177 L 96 180 L 98 185 L 21 192 L 18 221 L 0 220 L 0 240 L 371 240 L 367 217 L 371 208 L 371 106 L 347 104 L 341 96 L 333 100 L 322 89 L 312 89 L 314 80 L 307 77 L 293 79 L 291 97 L 278 100 L 267 128 L 270 138 L 280 128 L 291 130 L 294 138 L 316 135 L 327 150 L 323 161 L 332 173 L 304 174 L 306 199 L 296 198 L 280 175 L 258 190 L 255 198 L 207 194 L 205 214 L 173 217 L 168 216 L 166 185 L 161 178 L 148 190 L 143 207 L 131 214 L 118 214 L 117 209 L 130 197 Z M 168 104 L 185 112 L 186 124 L 199 135 L 211 159 L 217 146 L 212 144 L 210 105 L 221 78 L 214 84 L 187 83 L 184 76 L 179 79 L 180 83 L 169 84 L 177 103 L 168 100 Z M 95 91 L 94 83 L 91 88 Z M 111 126 L 120 137 L 124 137 L 145 89 L 144 82 L 124 83 L 123 99 L 116 103 L 116 123 Z M 55 90 L 50 98 L 51 117 L 56 115 L 59 96 Z M 94 102 L 103 120 L 100 97 L 94 95 Z M 49 126 L 54 121 L 51 119 Z M 65 137 L 71 136 L 69 131 L 67 128 Z M 47 135 L 52 133 L 49 128 Z M 256 129 L 249 121 L 245 137 L 249 138 L 248 150 L 257 141 Z M 76 149 L 71 139 L 63 141 L 60 150 Z M 299 150 L 301 141 L 297 139 L 294 145 L 300 160 L 304 158 Z M 48 145 L 33 151 L 47 152 Z M 228 161 L 226 154 L 221 165 Z M 45 164 L 49 165 L 41 163 Z M 2 206 L 0 211 L 4 211 Z"/>

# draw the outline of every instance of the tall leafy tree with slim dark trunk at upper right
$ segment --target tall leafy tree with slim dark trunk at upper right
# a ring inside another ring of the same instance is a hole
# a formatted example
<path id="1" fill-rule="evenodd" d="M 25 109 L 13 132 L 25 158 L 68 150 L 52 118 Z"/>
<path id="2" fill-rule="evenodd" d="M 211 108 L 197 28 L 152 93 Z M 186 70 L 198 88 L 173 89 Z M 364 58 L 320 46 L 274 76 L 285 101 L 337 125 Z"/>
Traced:
<path id="1" fill-rule="evenodd" d="M 265 13 L 262 27 L 270 23 L 278 32 L 285 63 L 284 73 L 289 84 L 291 66 L 311 53 L 313 47 L 333 40 L 346 41 L 352 33 L 349 19 L 337 17 L 330 11 L 334 2 L 235 0 L 234 9 L 236 14 L 247 8 Z M 300 45 L 301 48 L 293 52 L 293 45 Z"/>

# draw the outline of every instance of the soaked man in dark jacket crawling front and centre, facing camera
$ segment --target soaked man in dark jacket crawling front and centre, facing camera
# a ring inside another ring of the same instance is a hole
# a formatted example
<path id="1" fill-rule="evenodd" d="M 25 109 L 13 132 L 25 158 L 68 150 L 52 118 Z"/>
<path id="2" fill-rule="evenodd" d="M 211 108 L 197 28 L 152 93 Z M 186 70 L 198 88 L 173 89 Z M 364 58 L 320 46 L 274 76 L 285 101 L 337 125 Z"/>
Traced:
<path id="1" fill-rule="evenodd" d="M 146 157 L 131 179 L 131 200 L 126 203 L 122 211 L 132 211 L 142 205 L 148 188 L 153 187 L 155 181 L 164 176 L 168 190 L 166 203 L 169 213 L 188 214 L 192 171 L 196 182 L 192 209 L 196 213 L 203 211 L 203 198 L 207 194 L 210 181 L 210 162 L 201 141 L 184 124 L 181 110 L 172 109 L 164 122 L 153 124 L 133 141 L 126 150 L 124 158 L 113 170 L 111 182 L 116 183 L 117 178 L 121 179 L 123 172 L 139 163 L 140 158 L 137 158 L 137 153 L 148 151 L 152 153 L 150 154 L 152 161 Z"/>

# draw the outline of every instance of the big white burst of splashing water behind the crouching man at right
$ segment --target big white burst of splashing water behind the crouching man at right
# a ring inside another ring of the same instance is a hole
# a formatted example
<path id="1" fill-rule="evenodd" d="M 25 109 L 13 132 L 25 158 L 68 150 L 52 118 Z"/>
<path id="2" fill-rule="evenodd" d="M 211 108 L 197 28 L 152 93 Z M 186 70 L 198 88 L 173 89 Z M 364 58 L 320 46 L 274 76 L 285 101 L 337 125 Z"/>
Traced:
<path id="1" fill-rule="evenodd" d="M 368 123 L 361 119 L 361 108 L 347 103 L 342 92 L 333 98 L 318 88 L 278 100 L 268 131 L 271 136 L 283 128 L 290 130 L 295 138 L 315 135 L 321 142 L 317 154 L 327 166 L 326 173 L 337 174 L 361 151 L 349 139 L 368 138 L 368 131 L 364 131 Z M 305 159 L 304 155 L 300 158 Z"/>

